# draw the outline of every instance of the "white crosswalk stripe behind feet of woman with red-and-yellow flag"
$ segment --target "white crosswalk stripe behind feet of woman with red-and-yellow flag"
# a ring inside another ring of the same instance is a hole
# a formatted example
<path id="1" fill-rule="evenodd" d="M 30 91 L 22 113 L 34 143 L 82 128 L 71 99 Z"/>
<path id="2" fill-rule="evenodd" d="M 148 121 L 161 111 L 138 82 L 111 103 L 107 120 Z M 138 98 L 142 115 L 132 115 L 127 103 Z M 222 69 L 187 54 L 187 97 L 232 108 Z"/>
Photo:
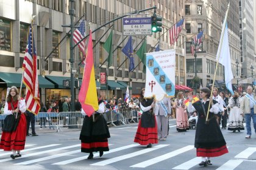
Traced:
<path id="1" fill-rule="evenodd" d="M 130 144 L 130 145 L 123 146 L 123 147 L 120 147 L 120 148 L 110 149 L 110 151 L 104 152 L 104 155 L 110 154 L 110 153 L 113 153 L 113 152 L 122 151 L 124 149 L 129 149 L 129 148 L 132 148 L 132 147 L 138 146 L 138 145 L 139 144 Z M 99 153 L 96 153 L 96 154 L 94 154 L 93 157 L 98 157 L 98 156 L 99 156 Z M 88 157 L 88 155 L 86 155 L 84 157 L 73 158 L 71 160 L 60 161 L 60 162 L 57 162 L 57 163 L 53 163 L 52 165 L 67 165 L 68 163 L 73 163 L 73 162 L 76 162 L 76 161 L 85 160 L 85 159 L 87 159 L 87 157 Z"/>

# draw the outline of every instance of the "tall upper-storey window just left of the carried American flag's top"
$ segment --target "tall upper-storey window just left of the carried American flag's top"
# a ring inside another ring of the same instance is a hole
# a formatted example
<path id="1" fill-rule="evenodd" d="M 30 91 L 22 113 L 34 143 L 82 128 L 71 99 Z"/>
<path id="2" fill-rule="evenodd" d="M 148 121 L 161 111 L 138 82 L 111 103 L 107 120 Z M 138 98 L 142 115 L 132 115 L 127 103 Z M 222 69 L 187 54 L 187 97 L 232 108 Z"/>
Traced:
<path id="1" fill-rule="evenodd" d="M 20 53 L 26 52 L 29 25 L 20 24 Z"/>

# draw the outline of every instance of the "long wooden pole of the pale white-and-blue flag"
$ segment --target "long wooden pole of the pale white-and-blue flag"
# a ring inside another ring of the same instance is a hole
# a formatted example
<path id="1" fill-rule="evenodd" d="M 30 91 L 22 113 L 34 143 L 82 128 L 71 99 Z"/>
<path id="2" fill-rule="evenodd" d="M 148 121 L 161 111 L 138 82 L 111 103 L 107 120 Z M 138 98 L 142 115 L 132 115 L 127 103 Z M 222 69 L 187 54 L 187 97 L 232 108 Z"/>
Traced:
<path id="1" fill-rule="evenodd" d="M 230 2 L 229 2 L 229 4 L 230 4 Z M 217 73 L 217 69 L 218 69 L 218 64 L 219 64 L 219 56 L 220 56 L 220 53 L 221 53 L 221 47 L 222 47 L 222 42 L 223 42 L 223 38 L 224 38 L 224 31 L 226 29 L 227 14 L 229 13 L 229 4 L 227 5 L 227 11 L 226 11 L 226 15 L 225 15 L 225 18 L 224 18 L 224 21 L 223 21 L 223 25 L 222 25 L 222 28 L 224 27 L 224 29 L 222 29 L 222 32 L 221 32 L 221 39 L 220 39 L 221 41 L 219 42 L 219 50 L 218 50 L 218 53 L 217 53 L 217 64 L 216 64 L 215 73 L 214 73 L 214 77 L 213 77 L 213 85 L 212 85 L 212 90 L 211 90 L 210 97 L 212 97 L 212 95 L 213 95 L 213 87 L 214 87 L 215 77 L 216 77 L 216 73 Z M 209 110 L 210 110 L 210 103 L 209 103 L 208 110 L 207 110 L 207 117 L 205 119 L 205 124 L 208 123 Z"/>

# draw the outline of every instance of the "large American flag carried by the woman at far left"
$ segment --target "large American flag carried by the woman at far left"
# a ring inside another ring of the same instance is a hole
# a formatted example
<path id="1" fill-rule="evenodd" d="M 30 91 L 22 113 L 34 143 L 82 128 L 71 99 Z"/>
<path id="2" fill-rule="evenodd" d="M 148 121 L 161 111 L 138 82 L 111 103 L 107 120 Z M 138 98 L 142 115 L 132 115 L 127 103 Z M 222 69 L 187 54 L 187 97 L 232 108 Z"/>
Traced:
<path id="1" fill-rule="evenodd" d="M 37 115 L 40 110 L 40 98 L 37 75 L 37 53 L 32 32 L 32 25 L 29 27 L 29 39 L 23 61 L 23 83 L 26 85 L 26 107 L 29 112 Z"/>

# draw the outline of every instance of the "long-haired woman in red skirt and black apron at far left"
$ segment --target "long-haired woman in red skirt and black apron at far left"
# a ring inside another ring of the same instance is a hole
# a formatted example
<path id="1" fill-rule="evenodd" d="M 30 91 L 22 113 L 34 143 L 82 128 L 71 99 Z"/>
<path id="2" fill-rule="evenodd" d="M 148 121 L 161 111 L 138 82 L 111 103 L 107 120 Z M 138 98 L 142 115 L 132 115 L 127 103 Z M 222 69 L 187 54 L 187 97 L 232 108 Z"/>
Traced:
<path id="1" fill-rule="evenodd" d="M 26 103 L 18 94 L 15 86 L 10 88 L 5 102 L 4 114 L 7 115 L 2 127 L 0 149 L 12 151 L 10 157 L 15 159 L 21 157 L 21 150 L 25 148 L 26 142 Z"/>

